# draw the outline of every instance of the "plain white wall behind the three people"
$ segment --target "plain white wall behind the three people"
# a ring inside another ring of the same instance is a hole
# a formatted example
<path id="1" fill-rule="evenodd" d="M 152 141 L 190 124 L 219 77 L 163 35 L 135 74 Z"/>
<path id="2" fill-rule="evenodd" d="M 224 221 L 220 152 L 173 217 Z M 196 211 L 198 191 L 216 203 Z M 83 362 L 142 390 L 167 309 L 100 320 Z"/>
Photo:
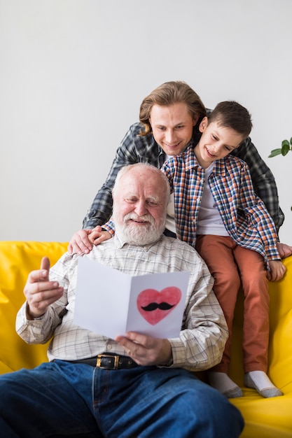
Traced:
<path id="1" fill-rule="evenodd" d="M 251 111 L 292 243 L 292 153 L 267 158 L 292 136 L 291 16 L 291 0 L 0 0 L 0 239 L 68 241 L 141 100 L 185 80 Z"/>

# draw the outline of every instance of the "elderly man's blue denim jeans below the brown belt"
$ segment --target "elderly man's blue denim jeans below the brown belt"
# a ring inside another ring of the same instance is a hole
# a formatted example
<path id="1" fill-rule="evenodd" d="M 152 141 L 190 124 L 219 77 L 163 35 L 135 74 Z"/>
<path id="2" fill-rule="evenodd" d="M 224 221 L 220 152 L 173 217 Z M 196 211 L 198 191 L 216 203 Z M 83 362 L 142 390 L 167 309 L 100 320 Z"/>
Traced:
<path id="1" fill-rule="evenodd" d="M 229 438 L 244 427 L 237 408 L 183 369 L 57 360 L 3 374 L 0 395 L 5 438 Z"/>

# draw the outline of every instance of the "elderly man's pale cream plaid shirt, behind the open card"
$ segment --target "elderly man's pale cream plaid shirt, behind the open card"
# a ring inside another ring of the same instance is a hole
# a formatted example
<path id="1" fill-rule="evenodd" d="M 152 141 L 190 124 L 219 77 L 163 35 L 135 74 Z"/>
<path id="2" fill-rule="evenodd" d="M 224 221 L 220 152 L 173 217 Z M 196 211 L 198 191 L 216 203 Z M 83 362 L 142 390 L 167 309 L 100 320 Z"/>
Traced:
<path id="1" fill-rule="evenodd" d="M 28 344 L 44 344 L 53 336 L 48 349 L 50 360 L 90 358 L 104 352 L 127 355 L 113 339 L 74 325 L 78 257 L 66 253 L 50 269 L 50 280 L 64 285 L 63 297 L 35 320 L 27 320 L 25 303 L 17 316 L 18 334 Z M 83 257 L 133 276 L 188 271 L 190 277 L 181 333 L 179 337 L 169 339 L 172 367 L 201 370 L 220 362 L 228 329 L 212 290 L 214 280 L 207 265 L 191 246 L 166 236 L 148 246 L 134 246 L 121 243 L 115 236 L 95 246 Z M 102 286 L 97 293 L 102 295 Z"/>

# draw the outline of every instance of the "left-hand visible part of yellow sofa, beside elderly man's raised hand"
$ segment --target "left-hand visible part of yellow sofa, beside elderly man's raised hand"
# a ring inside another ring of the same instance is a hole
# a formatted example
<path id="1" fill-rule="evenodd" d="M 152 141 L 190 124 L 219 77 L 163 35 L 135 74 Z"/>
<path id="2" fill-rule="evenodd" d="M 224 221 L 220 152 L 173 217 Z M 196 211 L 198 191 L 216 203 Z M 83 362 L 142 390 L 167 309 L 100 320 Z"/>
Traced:
<path id="1" fill-rule="evenodd" d="M 47 345 L 27 345 L 15 332 L 16 313 L 25 302 L 27 274 L 47 255 L 51 264 L 68 243 L 0 241 L 0 374 L 32 368 L 48 360 Z"/>

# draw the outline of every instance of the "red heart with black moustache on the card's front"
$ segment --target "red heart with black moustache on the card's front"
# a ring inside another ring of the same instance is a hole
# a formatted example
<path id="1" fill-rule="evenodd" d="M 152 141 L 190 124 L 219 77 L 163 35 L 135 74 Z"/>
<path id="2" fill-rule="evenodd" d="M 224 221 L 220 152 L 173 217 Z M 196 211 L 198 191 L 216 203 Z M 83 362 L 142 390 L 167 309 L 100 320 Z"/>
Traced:
<path id="1" fill-rule="evenodd" d="M 155 289 L 145 289 L 137 298 L 138 310 L 141 316 L 152 325 L 159 323 L 179 304 L 181 290 L 170 286 L 160 292 Z"/>

